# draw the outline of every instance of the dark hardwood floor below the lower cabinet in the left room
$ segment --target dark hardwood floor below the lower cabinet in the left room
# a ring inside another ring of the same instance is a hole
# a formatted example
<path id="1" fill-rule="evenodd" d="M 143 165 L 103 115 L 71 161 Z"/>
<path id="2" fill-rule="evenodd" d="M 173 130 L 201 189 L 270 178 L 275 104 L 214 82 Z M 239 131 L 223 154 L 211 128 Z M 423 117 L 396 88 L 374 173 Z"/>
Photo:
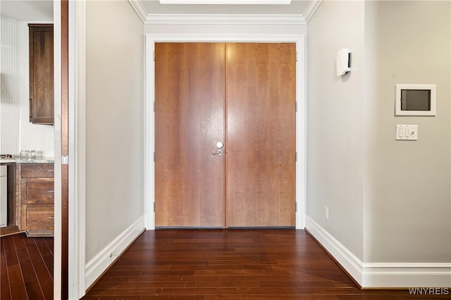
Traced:
<path id="1" fill-rule="evenodd" d="M 53 299 L 54 239 L 25 233 L 0 238 L 0 299 Z"/>

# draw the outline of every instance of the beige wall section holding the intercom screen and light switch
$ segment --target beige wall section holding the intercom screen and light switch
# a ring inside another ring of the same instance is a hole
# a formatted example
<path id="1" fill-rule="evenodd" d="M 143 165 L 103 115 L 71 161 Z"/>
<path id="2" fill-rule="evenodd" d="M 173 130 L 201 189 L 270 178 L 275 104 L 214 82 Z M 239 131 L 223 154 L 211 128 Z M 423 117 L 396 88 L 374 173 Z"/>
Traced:
<path id="1" fill-rule="evenodd" d="M 450 1 L 366 2 L 367 263 L 451 263 L 450 19 Z M 437 115 L 395 117 L 395 84 L 436 84 Z"/>

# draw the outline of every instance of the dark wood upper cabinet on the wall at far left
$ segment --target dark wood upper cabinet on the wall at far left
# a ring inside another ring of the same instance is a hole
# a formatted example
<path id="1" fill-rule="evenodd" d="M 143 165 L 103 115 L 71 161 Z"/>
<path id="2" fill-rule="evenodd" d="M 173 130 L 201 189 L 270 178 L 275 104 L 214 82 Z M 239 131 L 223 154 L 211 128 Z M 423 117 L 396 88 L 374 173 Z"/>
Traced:
<path id="1" fill-rule="evenodd" d="M 29 24 L 30 122 L 54 124 L 54 25 Z"/>

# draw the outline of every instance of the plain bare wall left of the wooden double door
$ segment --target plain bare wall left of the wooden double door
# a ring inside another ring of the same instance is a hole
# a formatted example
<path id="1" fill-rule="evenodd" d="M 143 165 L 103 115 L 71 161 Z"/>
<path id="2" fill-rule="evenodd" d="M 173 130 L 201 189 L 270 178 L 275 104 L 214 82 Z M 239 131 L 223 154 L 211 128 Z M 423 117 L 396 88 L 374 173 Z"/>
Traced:
<path id="1" fill-rule="evenodd" d="M 109 256 L 111 243 L 144 214 L 142 31 L 142 21 L 128 1 L 86 2 L 85 258 L 89 266 L 95 267 L 99 256 Z M 87 280 L 87 286 L 90 283 Z"/>

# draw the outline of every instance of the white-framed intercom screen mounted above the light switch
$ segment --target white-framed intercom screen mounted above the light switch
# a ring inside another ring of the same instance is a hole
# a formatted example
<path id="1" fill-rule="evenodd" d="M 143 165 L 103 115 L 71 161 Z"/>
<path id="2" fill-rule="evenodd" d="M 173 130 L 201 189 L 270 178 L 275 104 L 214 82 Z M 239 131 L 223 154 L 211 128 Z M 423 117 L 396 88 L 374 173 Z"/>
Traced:
<path id="1" fill-rule="evenodd" d="M 396 84 L 395 115 L 435 116 L 435 84 Z"/>

